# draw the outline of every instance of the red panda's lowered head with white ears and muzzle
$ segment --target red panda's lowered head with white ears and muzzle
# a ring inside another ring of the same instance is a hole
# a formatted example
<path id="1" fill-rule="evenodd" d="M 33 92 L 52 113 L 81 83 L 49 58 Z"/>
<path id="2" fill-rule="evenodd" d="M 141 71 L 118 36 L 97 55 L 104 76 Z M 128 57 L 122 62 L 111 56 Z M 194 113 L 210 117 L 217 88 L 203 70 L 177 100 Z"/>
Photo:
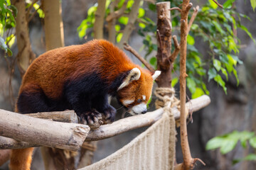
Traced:
<path id="1" fill-rule="evenodd" d="M 117 90 L 117 98 L 131 114 L 146 113 L 146 103 L 151 97 L 153 81 L 160 71 L 151 75 L 145 70 L 132 69 Z"/>

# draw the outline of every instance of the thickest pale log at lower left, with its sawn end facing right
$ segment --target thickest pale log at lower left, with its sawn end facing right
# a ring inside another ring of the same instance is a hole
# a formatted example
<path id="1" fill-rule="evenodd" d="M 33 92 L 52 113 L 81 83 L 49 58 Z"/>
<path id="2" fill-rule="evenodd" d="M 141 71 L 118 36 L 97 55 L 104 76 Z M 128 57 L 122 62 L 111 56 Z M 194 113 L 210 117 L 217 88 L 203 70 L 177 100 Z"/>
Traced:
<path id="1" fill-rule="evenodd" d="M 34 145 L 76 151 L 90 130 L 87 125 L 53 122 L 4 110 L 0 110 L 0 115 L 1 136 Z"/>

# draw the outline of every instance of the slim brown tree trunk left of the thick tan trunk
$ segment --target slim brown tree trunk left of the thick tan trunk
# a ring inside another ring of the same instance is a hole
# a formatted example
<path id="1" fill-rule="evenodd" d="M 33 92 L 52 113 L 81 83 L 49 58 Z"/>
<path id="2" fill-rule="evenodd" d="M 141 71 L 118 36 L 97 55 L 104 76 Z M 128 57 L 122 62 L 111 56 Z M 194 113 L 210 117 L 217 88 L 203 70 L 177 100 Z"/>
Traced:
<path id="1" fill-rule="evenodd" d="M 16 38 L 18 45 L 18 66 L 21 77 L 28 69 L 28 66 L 35 59 L 35 54 L 31 49 L 31 42 L 28 35 L 28 23 L 26 21 L 26 6 L 23 0 L 14 0 L 12 4 L 16 6 L 18 15 L 16 17 Z"/>

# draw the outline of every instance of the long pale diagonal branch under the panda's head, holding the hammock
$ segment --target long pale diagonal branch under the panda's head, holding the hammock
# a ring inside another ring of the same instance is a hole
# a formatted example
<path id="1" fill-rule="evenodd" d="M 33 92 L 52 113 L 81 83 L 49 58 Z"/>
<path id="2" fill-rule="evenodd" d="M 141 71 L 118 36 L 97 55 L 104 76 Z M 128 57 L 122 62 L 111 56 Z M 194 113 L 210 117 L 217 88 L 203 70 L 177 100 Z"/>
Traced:
<path id="1" fill-rule="evenodd" d="M 208 106 L 209 103 L 209 96 L 204 95 L 192 99 L 191 101 L 186 103 L 186 107 L 188 108 L 188 111 L 194 112 Z M 122 132 L 127 132 L 129 130 L 152 125 L 157 120 L 159 120 L 159 118 L 161 118 L 161 115 L 163 113 L 164 109 L 159 108 L 156 111 L 149 112 L 144 115 L 134 115 L 129 118 L 117 120 L 110 125 L 102 125 L 97 130 L 90 130 L 85 141 L 102 140 L 108 137 L 119 135 Z M 176 120 L 180 118 L 180 112 L 177 108 L 172 108 L 172 113 L 174 113 L 174 118 Z M 38 147 L 38 145 L 29 144 L 28 142 L 19 142 L 8 137 L 0 137 L 0 149 L 18 149 L 26 147 Z"/>

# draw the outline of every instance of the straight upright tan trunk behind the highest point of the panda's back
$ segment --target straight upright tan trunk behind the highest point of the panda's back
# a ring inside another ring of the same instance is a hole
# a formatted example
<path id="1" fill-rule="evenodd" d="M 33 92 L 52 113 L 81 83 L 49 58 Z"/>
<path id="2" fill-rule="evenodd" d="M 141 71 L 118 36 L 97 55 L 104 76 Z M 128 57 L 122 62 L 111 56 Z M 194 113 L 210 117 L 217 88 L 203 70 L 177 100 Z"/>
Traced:
<path id="1" fill-rule="evenodd" d="M 93 25 L 93 33 L 95 39 L 103 38 L 103 24 L 105 18 L 106 0 L 98 1 L 97 11 L 95 13 L 95 23 Z"/>

